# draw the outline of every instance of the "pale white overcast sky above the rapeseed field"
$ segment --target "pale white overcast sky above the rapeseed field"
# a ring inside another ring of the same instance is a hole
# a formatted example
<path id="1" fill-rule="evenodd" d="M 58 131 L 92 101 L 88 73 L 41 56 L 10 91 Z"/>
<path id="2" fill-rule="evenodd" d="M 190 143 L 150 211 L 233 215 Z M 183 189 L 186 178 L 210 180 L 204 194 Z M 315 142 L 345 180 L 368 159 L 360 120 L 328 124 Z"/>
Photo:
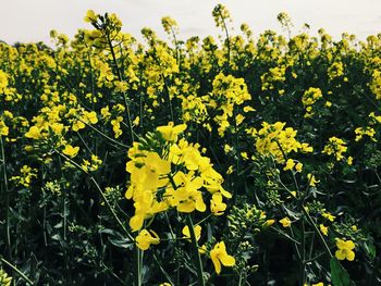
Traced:
<path id="1" fill-rule="evenodd" d="M 311 34 L 323 27 L 336 39 L 343 32 L 359 39 L 381 33 L 381 0 L 0 0 L 0 39 L 8 43 L 49 43 L 53 28 L 73 37 L 77 28 L 90 28 L 83 21 L 88 9 L 115 12 L 123 30 L 137 38 L 143 27 L 165 38 L 160 20 L 167 15 L 179 23 L 182 39 L 216 36 L 219 30 L 211 12 L 218 3 L 230 10 L 236 34 L 242 23 L 247 23 L 255 35 L 266 29 L 280 32 L 280 12 L 292 17 L 294 34 L 304 23 L 311 26 Z"/>

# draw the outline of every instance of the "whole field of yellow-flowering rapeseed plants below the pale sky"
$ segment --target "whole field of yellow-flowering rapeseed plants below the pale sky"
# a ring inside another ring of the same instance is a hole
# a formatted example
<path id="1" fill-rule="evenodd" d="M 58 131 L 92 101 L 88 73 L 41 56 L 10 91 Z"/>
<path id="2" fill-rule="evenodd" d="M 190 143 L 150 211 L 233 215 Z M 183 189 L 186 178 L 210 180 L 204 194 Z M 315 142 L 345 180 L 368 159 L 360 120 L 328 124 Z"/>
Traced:
<path id="1" fill-rule="evenodd" d="M 0 285 L 381 285 L 381 34 L 0 43 Z"/>

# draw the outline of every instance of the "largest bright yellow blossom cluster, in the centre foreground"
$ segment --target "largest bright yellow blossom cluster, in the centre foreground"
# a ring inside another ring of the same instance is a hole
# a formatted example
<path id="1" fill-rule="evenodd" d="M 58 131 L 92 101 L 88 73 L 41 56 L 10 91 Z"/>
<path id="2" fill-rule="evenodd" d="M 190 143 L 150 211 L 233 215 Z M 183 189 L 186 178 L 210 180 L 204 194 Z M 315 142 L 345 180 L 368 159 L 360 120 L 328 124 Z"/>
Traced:
<path id="1" fill-rule="evenodd" d="M 134 200 L 135 214 L 130 220 L 133 231 L 140 229 L 146 219 L 170 208 L 184 213 L 205 212 L 205 190 L 211 195 L 211 213 L 219 215 L 225 210 L 222 197 L 231 195 L 222 187 L 223 178 L 210 159 L 201 156 L 198 145 L 179 139 L 185 128 L 185 124 L 173 123 L 159 126 L 157 132 L 165 141 L 161 152 L 146 150 L 139 142 L 128 150 L 126 171 L 131 183 L 125 197 Z"/>

